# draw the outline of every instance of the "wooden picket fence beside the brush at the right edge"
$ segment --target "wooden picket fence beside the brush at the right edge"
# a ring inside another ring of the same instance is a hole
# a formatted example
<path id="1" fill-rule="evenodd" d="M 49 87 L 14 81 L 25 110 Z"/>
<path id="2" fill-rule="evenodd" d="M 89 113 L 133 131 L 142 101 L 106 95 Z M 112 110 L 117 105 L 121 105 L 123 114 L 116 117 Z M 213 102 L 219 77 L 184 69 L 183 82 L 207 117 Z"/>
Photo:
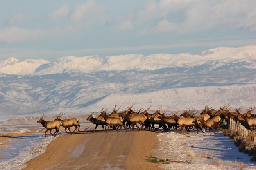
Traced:
<path id="1" fill-rule="evenodd" d="M 222 124 L 227 125 L 227 122 L 225 119 L 222 119 Z M 239 121 L 234 121 L 233 119 L 229 118 L 229 128 L 233 130 L 240 130 L 243 137 L 246 137 L 249 135 L 250 130 L 245 128 Z M 256 143 L 256 137 L 254 136 L 253 139 L 254 143 Z"/>

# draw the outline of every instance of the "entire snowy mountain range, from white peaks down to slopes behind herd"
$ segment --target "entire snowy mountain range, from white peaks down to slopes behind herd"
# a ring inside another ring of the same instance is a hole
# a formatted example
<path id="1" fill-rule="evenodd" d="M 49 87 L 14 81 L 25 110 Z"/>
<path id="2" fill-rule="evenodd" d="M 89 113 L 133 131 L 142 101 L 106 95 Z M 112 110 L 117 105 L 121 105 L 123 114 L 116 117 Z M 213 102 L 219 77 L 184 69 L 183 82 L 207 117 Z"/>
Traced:
<path id="1" fill-rule="evenodd" d="M 68 56 L 52 63 L 8 58 L 0 71 L 0 120 L 60 110 L 83 114 L 131 101 L 169 109 L 256 105 L 256 45 L 197 55 Z"/>

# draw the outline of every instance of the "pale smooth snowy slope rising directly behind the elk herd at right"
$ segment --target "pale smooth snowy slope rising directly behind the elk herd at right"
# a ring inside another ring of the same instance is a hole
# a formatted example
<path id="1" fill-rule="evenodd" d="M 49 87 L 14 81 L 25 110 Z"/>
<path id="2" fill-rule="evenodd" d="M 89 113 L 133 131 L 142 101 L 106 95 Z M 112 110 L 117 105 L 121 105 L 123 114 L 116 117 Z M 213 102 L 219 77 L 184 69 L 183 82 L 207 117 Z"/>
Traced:
<path id="1" fill-rule="evenodd" d="M 196 107 L 201 110 L 205 105 L 218 109 L 222 105 L 251 107 L 256 105 L 256 84 L 209 86 L 167 89 L 139 94 L 111 94 L 97 103 L 86 107 L 87 111 L 100 110 L 102 107 L 113 108 L 114 104 L 131 105 L 136 103 L 136 109 L 152 105 L 152 110 L 161 106 L 169 110 Z"/>

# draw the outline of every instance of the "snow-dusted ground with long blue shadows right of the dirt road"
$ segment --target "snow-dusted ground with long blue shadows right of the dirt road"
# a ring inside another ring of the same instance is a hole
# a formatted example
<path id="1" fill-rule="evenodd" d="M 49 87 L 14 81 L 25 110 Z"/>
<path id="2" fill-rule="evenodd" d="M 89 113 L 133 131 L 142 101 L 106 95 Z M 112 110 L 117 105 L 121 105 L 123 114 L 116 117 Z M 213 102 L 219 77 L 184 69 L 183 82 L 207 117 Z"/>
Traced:
<path id="1" fill-rule="evenodd" d="M 161 165 L 166 170 L 256 170 L 256 163 L 251 162 L 247 154 L 239 152 L 222 132 L 215 135 L 208 132 L 169 132 L 158 134 L 157 137 L 154 155 L 171 161 L 182 161 Z"/>

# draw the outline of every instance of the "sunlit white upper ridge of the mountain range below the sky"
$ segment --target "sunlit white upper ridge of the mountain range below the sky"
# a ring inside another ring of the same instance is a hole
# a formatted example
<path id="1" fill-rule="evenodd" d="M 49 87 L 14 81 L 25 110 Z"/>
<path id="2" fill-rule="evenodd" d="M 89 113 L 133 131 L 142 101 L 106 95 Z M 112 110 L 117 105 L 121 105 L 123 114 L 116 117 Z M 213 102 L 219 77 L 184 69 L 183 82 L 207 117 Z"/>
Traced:
<path id="1" fill-rule="evenodd" d="M 46 60 L 8 58 L 0 62 L 0 72 L 16 75 L 46 75 L 124 70 L 154 71 L 166 68 L 191 69 L 200 66 L 217 69 L 232 64 L 256 69 L 256 45 L 238 48 L 219 47 L 195 55 L 189 53 L 153 54 L 149 56 L 127 54 L 105 58 L 99 56 L 66 56 L 52 63 Z M 231 67 L 231 69 L 236 69 L 236 66 Z"/>

